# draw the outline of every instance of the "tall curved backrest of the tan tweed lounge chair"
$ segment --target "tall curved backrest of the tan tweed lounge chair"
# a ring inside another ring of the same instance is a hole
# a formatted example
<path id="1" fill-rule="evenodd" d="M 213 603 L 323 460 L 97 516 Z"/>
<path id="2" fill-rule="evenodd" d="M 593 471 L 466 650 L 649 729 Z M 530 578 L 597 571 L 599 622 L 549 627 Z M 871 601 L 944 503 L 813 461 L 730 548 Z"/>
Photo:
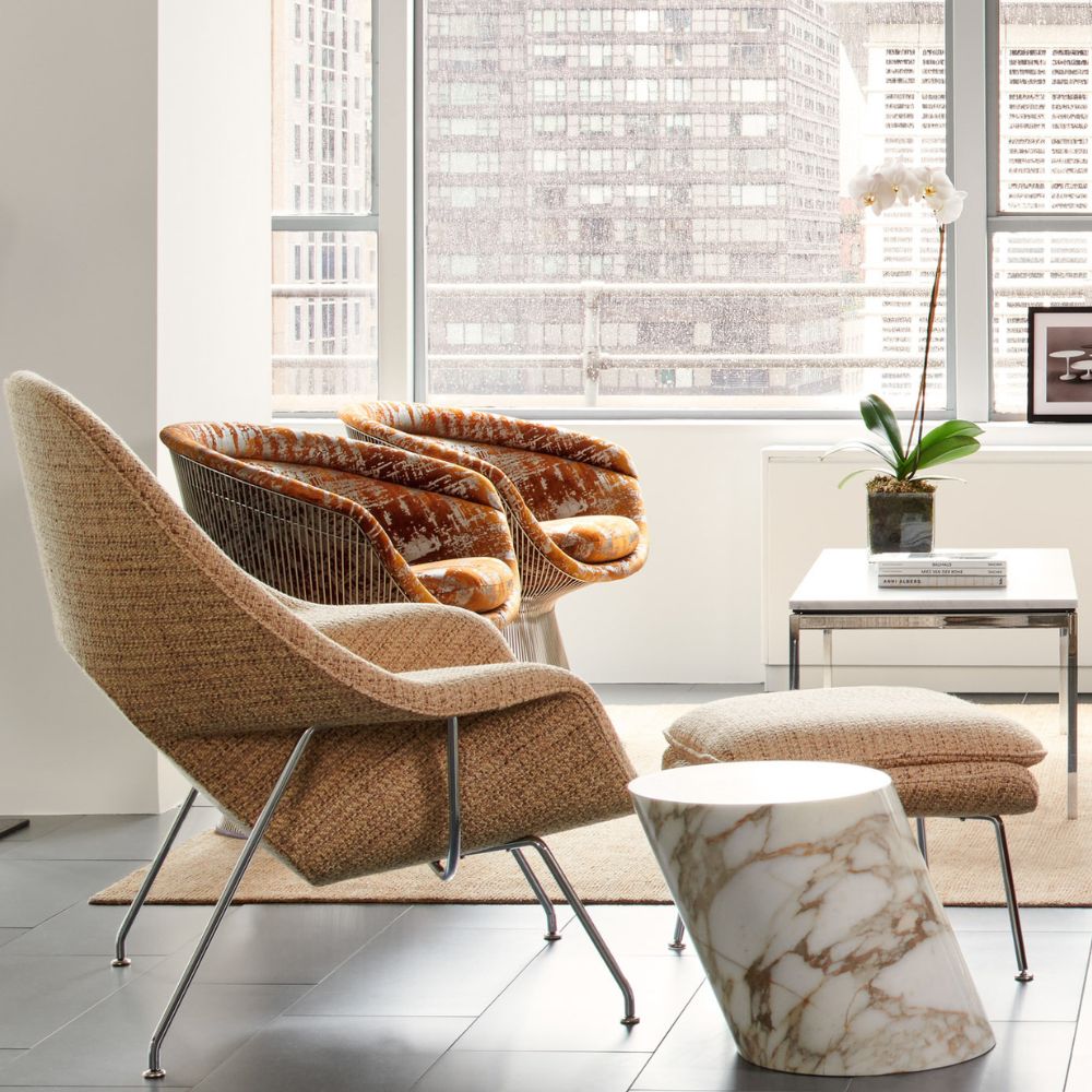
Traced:
<path id="1" fill-rule="evenodd" d="M 85 406 L 32 372 L 5 392 L 58 637 L 154 743 L 405 719 L 395 676 L 233 565 Z"/>

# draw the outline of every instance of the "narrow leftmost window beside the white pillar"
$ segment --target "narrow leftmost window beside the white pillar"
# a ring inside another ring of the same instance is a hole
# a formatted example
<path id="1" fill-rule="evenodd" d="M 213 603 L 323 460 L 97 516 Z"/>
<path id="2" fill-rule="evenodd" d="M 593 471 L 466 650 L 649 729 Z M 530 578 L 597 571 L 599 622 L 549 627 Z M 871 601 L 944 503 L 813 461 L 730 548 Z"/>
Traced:
<path id="1" fill-rule="evenodd" d="M 371 10 L 371 0 L 273 2 L 272 382 L 278 414 L 328 414 L 347 397 L 378 391 Z M 371 254 L 363 268 L 361 249 Z"/>

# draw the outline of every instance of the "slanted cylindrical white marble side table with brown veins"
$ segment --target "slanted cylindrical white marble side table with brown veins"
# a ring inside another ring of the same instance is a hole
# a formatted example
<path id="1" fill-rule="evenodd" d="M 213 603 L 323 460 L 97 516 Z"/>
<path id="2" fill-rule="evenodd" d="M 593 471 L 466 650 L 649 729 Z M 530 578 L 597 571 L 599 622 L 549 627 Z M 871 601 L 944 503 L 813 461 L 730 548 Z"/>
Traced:
<path id="1" fill-rule="evenodd" d="M 891 779 L 726 762 L 630 783 L 739 1054 L 830 1077 L 913 1072 L 994 1045 Z"/>

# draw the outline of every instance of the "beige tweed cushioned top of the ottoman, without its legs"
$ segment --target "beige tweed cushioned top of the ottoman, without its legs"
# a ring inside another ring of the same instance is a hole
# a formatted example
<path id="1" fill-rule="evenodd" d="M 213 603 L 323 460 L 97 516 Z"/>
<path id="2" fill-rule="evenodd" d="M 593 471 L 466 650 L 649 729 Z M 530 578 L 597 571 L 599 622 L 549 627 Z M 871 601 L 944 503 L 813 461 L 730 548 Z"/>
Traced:
<path id="1" fill-rule="evenodd" d="M 753 759 L 854 762 L 891 776 L 910 816 L 1033 811 L 1046 756 L 988 705 L 917 687 L 832 687 L 726 698 L 665 733 L 665 768 Z"/>

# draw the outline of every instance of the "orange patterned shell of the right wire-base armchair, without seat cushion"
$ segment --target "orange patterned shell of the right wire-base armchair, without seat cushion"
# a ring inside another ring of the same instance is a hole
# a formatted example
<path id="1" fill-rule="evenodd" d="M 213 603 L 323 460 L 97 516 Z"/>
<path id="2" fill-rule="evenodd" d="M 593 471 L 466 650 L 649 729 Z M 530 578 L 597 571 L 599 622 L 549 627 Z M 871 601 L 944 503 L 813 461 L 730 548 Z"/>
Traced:
<path id="1" fill-rule="evenodd" d="M 629 577 L 644 565 L 644 503 L 632 461 L 617 444 L 553 425 L 417 403 L 368 402 L 346 406 L 340 416 L 360 439 L 453 460 L 492 483 L 513 537 L 529 544 L 520 548 L 524 609 L 578 584 Z M 624 517 L 637 527 L 629 553 L 589 561 L 567 551 L 542 525 L 602 515 Z M 537 559 L 548 562 L 545 575 L 538 574 Z"/>

